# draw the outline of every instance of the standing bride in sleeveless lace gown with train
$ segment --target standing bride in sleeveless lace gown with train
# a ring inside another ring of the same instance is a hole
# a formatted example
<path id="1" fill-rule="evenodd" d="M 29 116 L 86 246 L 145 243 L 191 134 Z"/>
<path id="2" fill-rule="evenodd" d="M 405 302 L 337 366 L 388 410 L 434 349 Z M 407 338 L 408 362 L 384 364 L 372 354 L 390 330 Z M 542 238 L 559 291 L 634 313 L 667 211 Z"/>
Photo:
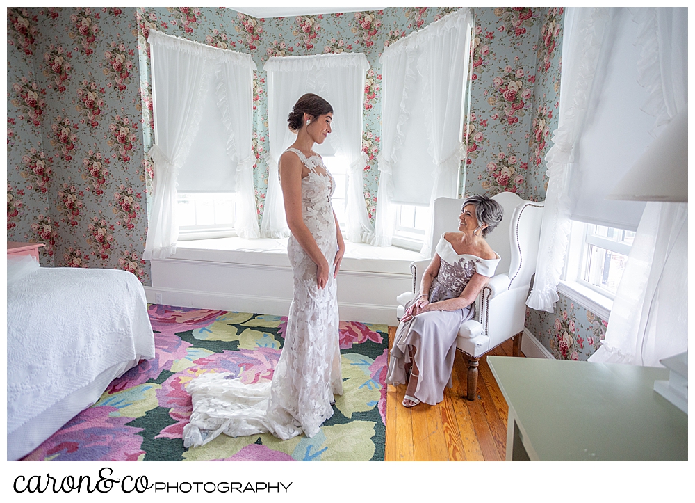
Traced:
<path id="1" fill-rule="evenodd" d="M 297 140 L 281 155 L 279 175 L 292 233 L 287 254 L 294 292 L 272 381 L 246 385 L 226 372 L 191 381 L 186 391 L 193 413 L 183 428 L 184 447 L 220 433 L 311 437 L 333 415 L 334 394 L 343 394 L 336 276 L 345 243 L 331 205 L 335 181 L 312 150 L 330 134 L 332 120 L 332 106 L 313 94 L 300 97 L 287 120 Z"/>

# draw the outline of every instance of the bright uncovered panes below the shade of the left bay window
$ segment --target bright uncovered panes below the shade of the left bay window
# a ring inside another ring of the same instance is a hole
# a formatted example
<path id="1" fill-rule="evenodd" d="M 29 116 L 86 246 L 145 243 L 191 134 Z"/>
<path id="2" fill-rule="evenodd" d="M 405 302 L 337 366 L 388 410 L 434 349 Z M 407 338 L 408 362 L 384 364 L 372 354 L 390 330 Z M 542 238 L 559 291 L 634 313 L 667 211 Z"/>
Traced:
<path id="1" fill-rule="evenodd" d="M 234 192 L 179 192 L 178 195 L 179 241 L 236 236 Z"/>

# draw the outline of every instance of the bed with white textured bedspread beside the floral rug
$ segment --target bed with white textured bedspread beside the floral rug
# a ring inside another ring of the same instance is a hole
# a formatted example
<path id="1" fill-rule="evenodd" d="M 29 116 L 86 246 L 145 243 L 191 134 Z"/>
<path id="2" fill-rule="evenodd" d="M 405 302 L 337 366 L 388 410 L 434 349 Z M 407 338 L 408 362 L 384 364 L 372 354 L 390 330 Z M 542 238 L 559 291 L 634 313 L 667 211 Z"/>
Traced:
<path id="1" fill-rule="evenodd" d="M 7 456 L 38 447 L 108 383 L 154 358 L 145 289 L 114 269 L 8 258 Z"/>

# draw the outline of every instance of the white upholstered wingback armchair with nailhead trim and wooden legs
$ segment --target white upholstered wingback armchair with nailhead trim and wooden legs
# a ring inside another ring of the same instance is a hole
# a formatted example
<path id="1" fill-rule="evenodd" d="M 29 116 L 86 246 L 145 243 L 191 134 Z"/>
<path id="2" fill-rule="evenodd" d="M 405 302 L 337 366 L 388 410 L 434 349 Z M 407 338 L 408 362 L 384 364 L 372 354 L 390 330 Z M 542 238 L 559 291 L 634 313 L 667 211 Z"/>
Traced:
<path id="1" fill-rule="evenodd" d="M 505 210 L 502 222 L 486 237 L 489 245 L 501 257 L 496 274 L 475 301 L 475 317 L 461 324 L 456 347 L 468 358 L 469 400 L 475 399 L 478 361 L 485 353 L 514 337 L 514 356 L 521 346 L 531 276 L 536 269 L 536 257 L 541 234 L 543 202 L 525 201 L 511 192 L 493 197 Z M 464 200 L 439 198 L 434 201 L 432 250 L 441 234 L 457 230 Z M 404 305 L 420 287 L 422 274 L 431 259 L 411 264 L 413 291 L 398 296 L 398 319 Z"/>

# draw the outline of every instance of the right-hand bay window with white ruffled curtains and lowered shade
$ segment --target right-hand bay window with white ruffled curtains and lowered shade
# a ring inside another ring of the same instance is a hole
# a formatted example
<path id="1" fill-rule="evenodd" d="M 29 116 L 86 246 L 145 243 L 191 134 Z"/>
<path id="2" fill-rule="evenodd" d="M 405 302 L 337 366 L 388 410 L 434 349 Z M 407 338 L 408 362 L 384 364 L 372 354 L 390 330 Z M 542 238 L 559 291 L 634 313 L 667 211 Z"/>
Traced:
<path id="1" fill-rule="evenodd" d="M 472 28 L 471 11 L 461 8 L 384 48 L 379 58 L 380 160 L 386 163 L 379 165 L 385 168 L 379 175 L 379 246 L 414 249 L 419 241 L 424 256 L 434 253 L 425 208 L 436 198 L 456 198 L 460 186 Z"/>

